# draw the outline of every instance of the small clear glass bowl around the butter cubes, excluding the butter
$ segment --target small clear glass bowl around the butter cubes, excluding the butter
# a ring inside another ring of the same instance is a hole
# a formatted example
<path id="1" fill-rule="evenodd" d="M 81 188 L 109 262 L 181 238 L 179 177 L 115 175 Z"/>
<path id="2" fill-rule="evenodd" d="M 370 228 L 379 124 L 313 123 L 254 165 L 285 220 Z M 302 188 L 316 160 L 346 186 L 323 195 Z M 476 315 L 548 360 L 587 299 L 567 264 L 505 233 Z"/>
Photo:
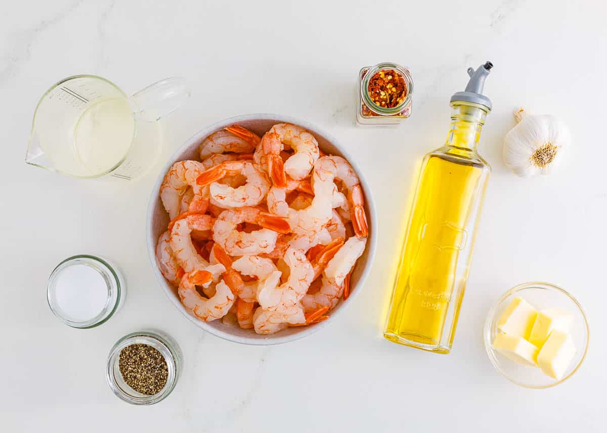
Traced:
<path id="1" fill-rule="evenodd" d="M 538 310 L 560 307 L 574 316 L 571 336 L 576 349 L 575 357 L 561 380 L 549 377 L 540 368 L 517 364 L 493 350 L 493 339 L 499 332 L 497 322 L 514 297 L 523 298 Z M 589 337 L 588 320 L 580 303 L 561 287 L 540 282 L 524 283 L 508 290 L 489 310 L 483 329 L 485 349 L 493 367 L 512 383 L 535 389 L 551 388 L 570 378 L 580 368 L 586 357 Z"/>

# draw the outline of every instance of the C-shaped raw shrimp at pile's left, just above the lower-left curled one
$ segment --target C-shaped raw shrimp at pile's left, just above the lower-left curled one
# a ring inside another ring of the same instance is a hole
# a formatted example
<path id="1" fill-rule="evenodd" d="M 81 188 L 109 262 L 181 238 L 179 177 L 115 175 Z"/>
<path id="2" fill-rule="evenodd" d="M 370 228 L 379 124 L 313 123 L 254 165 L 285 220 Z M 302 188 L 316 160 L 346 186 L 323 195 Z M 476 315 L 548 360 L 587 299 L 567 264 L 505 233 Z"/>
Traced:
<path id="1" fill-rule="evenodd" d="M 225 267 L 222 264 L 209 266 L 209 262 L 196 251 L 190 237 L 192 228 L 203 230 L 206 227 L 212 227 L 212 216 L 210 215 L 188 215 L 180 218 L 172 226 L 169 243 L 175 259 L 185 272 L 208 270 L 214 278 L 218 278 L 220 274 L 225 272 Z"/>

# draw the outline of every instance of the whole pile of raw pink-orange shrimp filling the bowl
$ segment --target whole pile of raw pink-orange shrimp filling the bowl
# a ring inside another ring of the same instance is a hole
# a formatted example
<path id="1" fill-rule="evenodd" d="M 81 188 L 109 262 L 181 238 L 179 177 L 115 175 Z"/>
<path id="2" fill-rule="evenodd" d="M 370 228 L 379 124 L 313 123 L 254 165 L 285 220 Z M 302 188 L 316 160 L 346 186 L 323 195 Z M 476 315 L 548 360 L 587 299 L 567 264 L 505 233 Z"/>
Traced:
<path id="1" fill-rule="evenodd" d="M 183 306 L 257 334 L 326 320 L 348 298 L 367 244 L 350 163 L 287 123 L 261 138 L 226 127 L 199 153 L 173 164 L 160 187 L 171 221 L 156 258 Z"/>

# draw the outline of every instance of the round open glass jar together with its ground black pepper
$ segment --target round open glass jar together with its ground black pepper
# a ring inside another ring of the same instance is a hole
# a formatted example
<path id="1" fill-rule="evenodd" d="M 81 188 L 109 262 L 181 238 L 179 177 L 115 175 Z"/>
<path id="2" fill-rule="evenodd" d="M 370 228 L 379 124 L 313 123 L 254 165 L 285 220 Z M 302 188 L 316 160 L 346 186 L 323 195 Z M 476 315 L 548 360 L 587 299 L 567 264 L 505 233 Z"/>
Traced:
<path id="1" fill-rule="evenodd" d="M 182 363 L 181 350 L 168 335 L 132 332 L 120 338 L 107 357 L 107 384 L 127 403 L 158 403 L 177 385 Z"/>

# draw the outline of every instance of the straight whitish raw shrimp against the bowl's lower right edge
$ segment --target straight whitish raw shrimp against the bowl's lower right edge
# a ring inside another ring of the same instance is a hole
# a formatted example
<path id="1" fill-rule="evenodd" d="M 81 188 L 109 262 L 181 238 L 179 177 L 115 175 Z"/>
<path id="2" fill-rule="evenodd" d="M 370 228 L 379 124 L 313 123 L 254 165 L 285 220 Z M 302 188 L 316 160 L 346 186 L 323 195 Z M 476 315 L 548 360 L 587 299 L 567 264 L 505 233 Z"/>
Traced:
<path id="1" fill-rule="evenodd" d="M 364 252 L 366 244 L 367 238 L 352 237 L 335 253 L 325 267 L 320 290 L 315 294 L 307 294 L 302 299 L 305 312 L 336 306 L 345 284 L 349 283 L 347 276 Z"/>

